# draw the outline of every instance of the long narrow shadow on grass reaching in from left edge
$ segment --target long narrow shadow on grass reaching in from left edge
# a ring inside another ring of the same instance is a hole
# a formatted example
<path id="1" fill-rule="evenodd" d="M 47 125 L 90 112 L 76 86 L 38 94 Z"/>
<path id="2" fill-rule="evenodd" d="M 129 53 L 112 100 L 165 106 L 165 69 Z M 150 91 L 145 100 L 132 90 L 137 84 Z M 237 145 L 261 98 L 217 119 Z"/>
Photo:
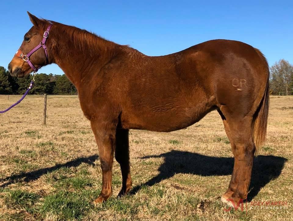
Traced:
<path id="1" fill-rule="evenodd" d="M 31 172 L 27 172 L 27 173 L 20 173 L 20 174 L 16 174 L 16 175 L 12 175 L 9 177 L 6 177 L 4 179 L 0 179 L 0 182 L 6 182 L 4 184 L 2 184 L 0 187 L 4 188 L 6 186 L 8 186 L 9 184 L 13 184 L 15 182 L 29 182 L 29 181 L 33 181 L 33 180 L 37 180 L 39 177 L 41 177 L 44 174 L 47 174 L 49 172 L 52 172 L 54 170 L 58 170 L 61 167 L 78 167 L 81 163 L 87 163 L 89 165 L 95 165 L 93 162 L 95 160 L 97 160 L 99 158 L 98 155 L 92 155 L 89 157 L 79 157 L 75 160 L 71 160 L 67 163 L 63 163 L 63 164 L 57 164 L 56 166 L 53 167 L 46 167 L 43 169 L 39 169 L 39 170 L 34 170 Z"/>

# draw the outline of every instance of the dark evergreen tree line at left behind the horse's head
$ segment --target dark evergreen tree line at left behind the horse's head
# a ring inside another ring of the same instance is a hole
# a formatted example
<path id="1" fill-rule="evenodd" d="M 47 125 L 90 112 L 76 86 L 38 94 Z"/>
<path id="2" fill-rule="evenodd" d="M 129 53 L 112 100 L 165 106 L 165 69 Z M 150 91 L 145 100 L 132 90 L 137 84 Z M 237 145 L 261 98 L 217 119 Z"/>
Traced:
<path id="1" fill-rule="evenodd" d="M 0 94 L 23 94 L 30 85 L 32 75 L 24 78 L 12 77 L 0 66 Z M 35 83 L 30 94 L 77 94 L 74 85 L 66 75 L 36 74 Z"/>

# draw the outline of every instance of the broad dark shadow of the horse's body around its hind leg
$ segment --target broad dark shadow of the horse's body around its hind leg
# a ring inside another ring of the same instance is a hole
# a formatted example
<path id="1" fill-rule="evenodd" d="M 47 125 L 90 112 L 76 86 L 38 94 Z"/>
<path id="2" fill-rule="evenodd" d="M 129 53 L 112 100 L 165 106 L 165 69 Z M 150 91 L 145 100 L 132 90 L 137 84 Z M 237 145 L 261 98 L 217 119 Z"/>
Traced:
<path id="1" fill-rule="evenodd" d="M 165 158 L 165 162 L 158 169 L 160 174 L 146 183 L 132 188 L 130 194 L 138 192 L 143 185 L 152 186 L 175 174 L 195 174 L 201 176 L 231 175 L 234 164 L 234 158 L 232 157 L 204 156 L 177 150 L 172 150 L 161 155 L 144 156 L 141 159 L 160 157 Z M 251 191 L 248 194 L 248 202 L 258 194 L 262 187 L 280 176 L 286 161 L 286 158 L 279 156 L 260 155 L 254 158 L 251 184 L 249 187 Z M 229 183 L 227 183 L 227 188 L 228 185 Z"/>

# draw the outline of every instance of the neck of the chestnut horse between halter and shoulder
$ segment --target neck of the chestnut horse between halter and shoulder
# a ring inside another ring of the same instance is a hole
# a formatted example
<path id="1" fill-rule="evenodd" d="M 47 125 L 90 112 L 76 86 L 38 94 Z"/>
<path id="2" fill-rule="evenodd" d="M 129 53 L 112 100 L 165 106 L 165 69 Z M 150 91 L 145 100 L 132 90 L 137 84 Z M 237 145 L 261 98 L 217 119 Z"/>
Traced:
<path id="1" fill-rule="evenodd" d="M 97 36 L 92 37 L 96 41 L 94 47 L 87 44 L 86 40 L 83 43 L 76 42 L 77 37 L 72 40 L 73 36 L 58 29 L 52 30 L 50 37 L 52 46 L 49 48 L 53 55 L 51 63 L 57 64 L 77 89 L 80 88 L 82 79 L 96 74 L 118 50 L 117 44 Z"/>

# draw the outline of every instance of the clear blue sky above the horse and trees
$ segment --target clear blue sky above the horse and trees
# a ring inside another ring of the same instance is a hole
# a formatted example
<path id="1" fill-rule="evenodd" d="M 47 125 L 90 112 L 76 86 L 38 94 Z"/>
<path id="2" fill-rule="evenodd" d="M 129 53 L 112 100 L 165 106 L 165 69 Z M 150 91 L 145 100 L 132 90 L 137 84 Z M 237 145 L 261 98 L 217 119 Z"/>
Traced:
<path id="1" fill-rule="evenodd" d="M 27 12 L 129 44 L 147 55 L 181 51 L 211 39 L 259 48 L 269 65 L 293 63 L 292 1 L 2 1 L 0 66 L 7 68 L 32 26 Z M 63 74 L 55 64 L 39 73 Z"/>

